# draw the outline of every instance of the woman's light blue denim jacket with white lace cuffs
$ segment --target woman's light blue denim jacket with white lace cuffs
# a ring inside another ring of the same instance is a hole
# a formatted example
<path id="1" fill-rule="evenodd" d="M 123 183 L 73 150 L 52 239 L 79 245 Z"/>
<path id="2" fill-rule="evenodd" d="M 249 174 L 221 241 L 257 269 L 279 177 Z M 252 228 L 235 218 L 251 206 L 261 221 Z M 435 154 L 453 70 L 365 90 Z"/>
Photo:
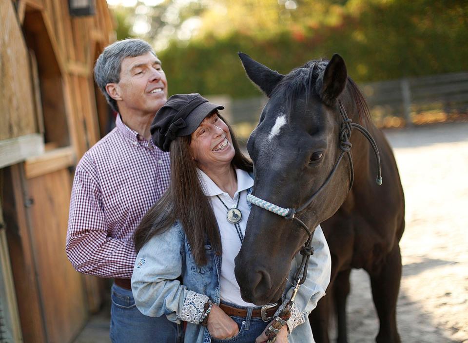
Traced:
<path id="1" fill-rule="evenodd" d="M 315 230 L 306 281 L 296 294 L 293 316 L 298 326 L 291 327 L 290 343 L 313 342 L 308 314 L 325 295 L 330 282 L 331 257 L 322 229 Z M 210 343 L 205 326 L 198 324 L 203 304 L 209 299 L 219 305 L 221 256 L 214 253 L 210 242 L 205 242 L 207 264 L 195 262 L 182 225 L 178 222 L 160 235 L 150 239 L 139 251 L 132 276 L 132 291 L 138 310 L 146 316 L 166 315 L 173 322 L 187 323 L 185 342 Z M 288 276 L 292 280 L 302 256 L 297 254 Z M 179 280 L 183 280 L 181 283 Z M 283 299 L 289 299 L 293 287 L 288 284 Z M 282 307 L 280 307 L 282 308 Z M 293 317 L 292 316 L 292 317 Z"/>

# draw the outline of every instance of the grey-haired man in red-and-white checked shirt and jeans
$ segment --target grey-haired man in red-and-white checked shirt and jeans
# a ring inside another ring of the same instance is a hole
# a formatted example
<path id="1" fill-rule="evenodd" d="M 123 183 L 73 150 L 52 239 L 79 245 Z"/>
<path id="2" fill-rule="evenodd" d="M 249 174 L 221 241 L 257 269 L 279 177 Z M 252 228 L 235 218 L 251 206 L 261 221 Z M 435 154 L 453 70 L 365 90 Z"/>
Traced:
<path id="1" fill-rule="evenodd" d="M 73 182 L 66 252 L 80 273 L 115 279 L 112 342 L 177 341 L 178 326 L 146 317 L 135 306 L 132 240 L 146 211 L 170 180 L 169 156 L 151 140 L 150 125 L 167 100 L 167 80 L 151 46 L 120 40 L 104 49 L 95 79 L 118 112 L 116 128 L 79 161 Z"/>

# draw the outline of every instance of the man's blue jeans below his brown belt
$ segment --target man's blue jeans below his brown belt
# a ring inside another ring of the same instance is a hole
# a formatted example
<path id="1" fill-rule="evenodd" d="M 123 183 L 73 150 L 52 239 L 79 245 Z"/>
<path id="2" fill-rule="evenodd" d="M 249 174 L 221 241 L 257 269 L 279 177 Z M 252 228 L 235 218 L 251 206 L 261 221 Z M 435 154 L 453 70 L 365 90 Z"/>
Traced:
<path id="1" fill-rule="evenodd" d="M 166 316 L 148 317 L 135 305 L 132 291 L 112 285 L 111 328 L 113 343 L 178 343 L 182 335 L 180 326 Z"/>

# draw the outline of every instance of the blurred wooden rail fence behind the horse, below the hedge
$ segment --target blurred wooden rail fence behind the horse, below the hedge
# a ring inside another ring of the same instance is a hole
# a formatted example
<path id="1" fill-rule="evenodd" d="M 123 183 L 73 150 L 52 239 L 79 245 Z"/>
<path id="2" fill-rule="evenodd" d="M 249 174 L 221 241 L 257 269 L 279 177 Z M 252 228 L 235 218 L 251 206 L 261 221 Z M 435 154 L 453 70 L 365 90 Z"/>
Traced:
<path id="1" fill-rule="evenodd" d="M 441 118 L 468 114 L 468 72 L 364 83 L 360 88 L 378 126 L 410 126 L 419 114 L 428 112 Z M 266 101 L 265 97 L 231 100 L 231 121 L 256 124 Z M 394 124 L 389 125 L 389 120 Z"/>

